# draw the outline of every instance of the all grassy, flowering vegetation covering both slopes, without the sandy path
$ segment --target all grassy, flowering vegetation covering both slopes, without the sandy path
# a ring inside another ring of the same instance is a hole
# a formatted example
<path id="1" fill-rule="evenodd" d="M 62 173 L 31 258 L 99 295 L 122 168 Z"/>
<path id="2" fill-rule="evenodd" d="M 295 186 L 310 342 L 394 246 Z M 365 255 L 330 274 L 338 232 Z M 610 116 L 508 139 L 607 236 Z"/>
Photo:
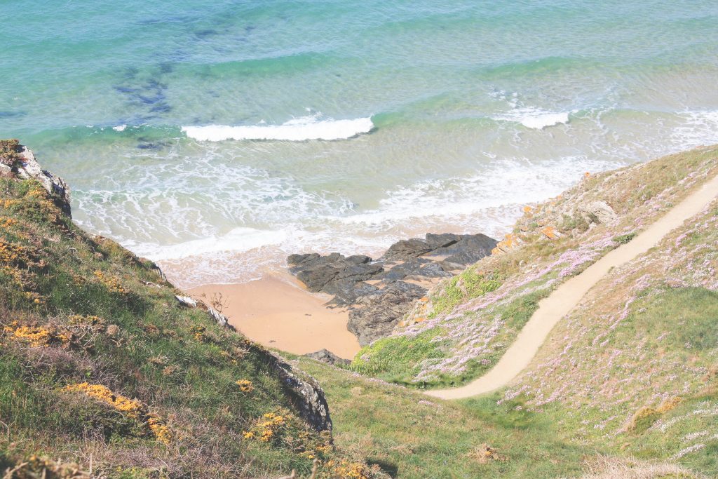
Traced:
<path id="1" fill-rule="evenodd" d="M 211 304 L 178 299 L 151 261 L 80 230 L 60 195 L 20 178 L 19 144 L 0 151 L 8 479 L 718 475 L 716 201 L 600 279 L 507 388 L 423 394 L 488 371 L 540 299 L 715 177 L 718 147 L 586 175 L 529 205 L 500 251 L 344 367 L 277 358 Z M 331 429 L 281 371 L 320 383 Z"/>

